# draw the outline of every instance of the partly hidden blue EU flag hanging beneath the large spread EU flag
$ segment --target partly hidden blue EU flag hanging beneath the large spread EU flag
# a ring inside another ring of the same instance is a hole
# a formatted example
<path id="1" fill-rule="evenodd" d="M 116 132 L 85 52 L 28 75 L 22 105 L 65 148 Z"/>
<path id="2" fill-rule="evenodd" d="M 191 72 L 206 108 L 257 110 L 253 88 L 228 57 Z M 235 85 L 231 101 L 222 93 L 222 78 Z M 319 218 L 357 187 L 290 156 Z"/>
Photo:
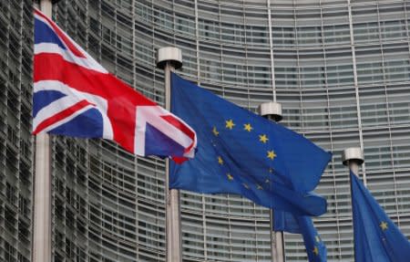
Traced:
<path id="1" fill-rule="evenodd" d="M 313 225 L 312 217 L 275 211 L 273 219 L 275 231 L 302 234 L 304 246 L 306 247 L 306 254 L 309 257 L 310 262 L 327 261 L 326 246 Z"/>

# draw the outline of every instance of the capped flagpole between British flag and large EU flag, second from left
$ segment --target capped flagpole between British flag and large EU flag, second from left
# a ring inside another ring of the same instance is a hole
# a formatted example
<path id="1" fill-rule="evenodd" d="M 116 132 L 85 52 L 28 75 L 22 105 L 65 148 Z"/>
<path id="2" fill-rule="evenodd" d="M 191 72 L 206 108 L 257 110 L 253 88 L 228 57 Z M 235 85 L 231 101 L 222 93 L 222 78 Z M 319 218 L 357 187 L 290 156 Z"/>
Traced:
<path id="1" fill-rule="evenodd" d="M 177 47 L 161 47 L 157 53 L 157 68 L 164 69 L 165 109 L 170 110 L 170 73 L 182 67 L 182 53 Z M 169 159 L 165 161 L 166 201 L 166 257 L 167 262 L 180 262 L 182 257 L 180 239 L 179 190 L 169 189 Z"/>

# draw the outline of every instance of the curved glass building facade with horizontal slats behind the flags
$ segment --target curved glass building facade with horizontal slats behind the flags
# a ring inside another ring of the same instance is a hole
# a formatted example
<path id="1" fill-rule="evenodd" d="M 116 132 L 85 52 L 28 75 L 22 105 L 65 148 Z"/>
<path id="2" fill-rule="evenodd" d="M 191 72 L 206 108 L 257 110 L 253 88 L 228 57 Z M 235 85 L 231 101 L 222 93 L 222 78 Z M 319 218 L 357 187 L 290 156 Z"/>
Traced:
<path id="1" fill-rule="evenodd" d="M 29 0 L 0 1 L 0 260 L 31 256 Z M 352 261 L 343 149 L 410 236 L 410 2 L 401 0 L 62 0 L 53 18 L 120 79 L 159 104 L 156 50 L 182 49 L 179 75 L 256 111 L 282 103 L 282 124 L 333 152 L 314 219 L 328 261 Z M 164 162 L 109 141 L 53 138 L 55 261 L 165 261 Z M 181 193 L 184 261 L 271 261 L 269 210 L 236 195 Z M 286 261 L 307 261 L 285 234 Z M 26 260 L 25 260 L 26 259 Z"/>

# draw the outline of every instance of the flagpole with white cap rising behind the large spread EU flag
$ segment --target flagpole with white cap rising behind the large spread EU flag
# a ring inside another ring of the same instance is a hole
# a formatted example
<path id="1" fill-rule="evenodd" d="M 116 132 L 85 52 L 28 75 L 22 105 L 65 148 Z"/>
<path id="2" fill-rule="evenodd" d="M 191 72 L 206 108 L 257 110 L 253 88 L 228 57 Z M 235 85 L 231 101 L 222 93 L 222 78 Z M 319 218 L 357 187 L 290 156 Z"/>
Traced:
<path id="1" fill-rule="evenodd" d="M 259 107 L 259 112 L 262 117 L 279 122 L 282 121 L 282 104 L 278 102 L 266 102 L 262 103 Z M 273 225 L 274 211 L 271 209 L 270 215 L 270 227 L 271 227 L 271 257 L 272 262 L 284 262 L 284 238 L 282 231 L 275 231 Z"/>

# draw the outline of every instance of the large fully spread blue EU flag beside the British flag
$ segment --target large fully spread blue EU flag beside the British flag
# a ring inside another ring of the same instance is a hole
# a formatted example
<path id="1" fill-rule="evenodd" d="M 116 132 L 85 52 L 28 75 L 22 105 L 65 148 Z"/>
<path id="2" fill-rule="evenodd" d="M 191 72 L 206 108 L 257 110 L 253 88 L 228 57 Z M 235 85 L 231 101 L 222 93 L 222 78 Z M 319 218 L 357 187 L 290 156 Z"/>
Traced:
<path id="1" fill-rule="evenodd" d="M 171 75 L 171 111 L 197 132 L 195 158 L 171 165 L 170 188 L 241 194 L 257 204 L 321 215 L 319 182 L 329 152 L 294 131 Z"/>

